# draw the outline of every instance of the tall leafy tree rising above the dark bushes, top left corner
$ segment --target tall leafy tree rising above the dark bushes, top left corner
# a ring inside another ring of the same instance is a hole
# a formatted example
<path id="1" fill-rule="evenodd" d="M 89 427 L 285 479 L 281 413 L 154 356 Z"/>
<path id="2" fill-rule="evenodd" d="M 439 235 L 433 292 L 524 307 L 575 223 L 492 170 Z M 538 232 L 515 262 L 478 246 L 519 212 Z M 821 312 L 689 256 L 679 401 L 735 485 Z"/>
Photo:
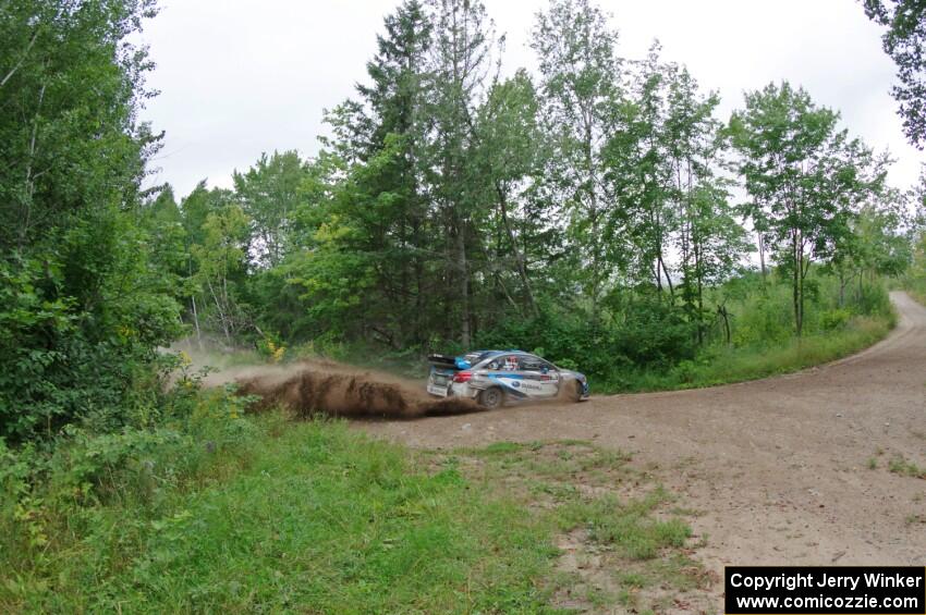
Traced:
<path id="1" fill-rule="evenodd" d="M 157 139 L 136 110 L 150 0 L 14 0 L 0 11 L 0 250 L 88 208 L 132 200 Z"/>

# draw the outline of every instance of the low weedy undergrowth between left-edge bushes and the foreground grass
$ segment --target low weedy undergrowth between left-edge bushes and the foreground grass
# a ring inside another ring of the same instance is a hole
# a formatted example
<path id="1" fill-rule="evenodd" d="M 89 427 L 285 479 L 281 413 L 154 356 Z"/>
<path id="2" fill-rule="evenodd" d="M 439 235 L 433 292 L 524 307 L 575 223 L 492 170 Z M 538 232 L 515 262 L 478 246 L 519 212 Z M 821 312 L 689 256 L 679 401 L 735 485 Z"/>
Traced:
<path id="1" fill-rule="evenodd" d="M 50 525 L 75 522 L 82 511 L 113 501 L 149 505 L 222 453 L 246 463 L 258 435 L 243 418 L 252 399 L 232 389 L 202 391 L 200 378 L 181 376 L 154 427 L 96 433 L 71 425 L 53 440 L 19 448 L 0 439 L 0 551 L 40 559 L 28 550 L 44 545 Z"/>

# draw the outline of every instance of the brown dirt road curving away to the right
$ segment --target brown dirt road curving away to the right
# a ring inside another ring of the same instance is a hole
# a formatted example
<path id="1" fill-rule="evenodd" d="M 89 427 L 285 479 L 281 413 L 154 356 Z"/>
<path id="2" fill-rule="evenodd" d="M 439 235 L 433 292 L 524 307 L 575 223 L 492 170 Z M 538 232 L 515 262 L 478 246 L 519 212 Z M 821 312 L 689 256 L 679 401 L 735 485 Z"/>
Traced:
<path id="1" fill-rule="evenodd" d="M 362 429 L 413 446 L 583 439 L 651 464 L 699 511 L 698 556 L 723 564 L 926 564 L 926 309 L 891 295 L 900 323 L 820 368 L 675 393 L 594 397 Z M 869 468 L 869 459 L 877 467 Z"/>

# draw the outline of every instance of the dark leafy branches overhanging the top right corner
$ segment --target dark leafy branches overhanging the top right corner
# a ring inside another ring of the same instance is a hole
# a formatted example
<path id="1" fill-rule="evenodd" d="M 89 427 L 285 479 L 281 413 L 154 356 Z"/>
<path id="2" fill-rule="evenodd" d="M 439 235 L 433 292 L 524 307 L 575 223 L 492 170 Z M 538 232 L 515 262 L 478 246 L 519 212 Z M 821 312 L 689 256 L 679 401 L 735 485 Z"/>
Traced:
<path id="1" fill-rule="evenodd" d="M 900 103 L 906 138 L 915 147 L 926 146 L 926 1 L 864 0 L 869 20 L 886 26 L 881 37 L 885 52 L 898 67 L 900 85 L 891 95 Z"/>

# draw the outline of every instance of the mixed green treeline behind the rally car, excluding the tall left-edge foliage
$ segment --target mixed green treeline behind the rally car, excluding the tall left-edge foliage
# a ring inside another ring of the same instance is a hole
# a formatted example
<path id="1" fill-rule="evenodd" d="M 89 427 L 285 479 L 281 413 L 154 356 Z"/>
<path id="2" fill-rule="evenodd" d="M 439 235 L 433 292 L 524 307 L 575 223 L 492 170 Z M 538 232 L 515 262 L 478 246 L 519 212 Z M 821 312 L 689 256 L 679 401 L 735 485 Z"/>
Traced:
<path id="1" fill-rule="evenodd" d="M 620 57 L 585 0 L 536 15 L 531 47 L 538 74 L 505 76 L 482 3 L 406 1 L 318 156 L 163 193 L 149 214 L 185 255 L 166 262 L 194 330 L 666 364 L 729 329 L 710 295 L 751 261 L 789 285 L 797 335 L 814 267 L 842 307 L 906 266 L 889 161 L 803 89 L 770 84 L 723 121 L 658 44 Z"/>

